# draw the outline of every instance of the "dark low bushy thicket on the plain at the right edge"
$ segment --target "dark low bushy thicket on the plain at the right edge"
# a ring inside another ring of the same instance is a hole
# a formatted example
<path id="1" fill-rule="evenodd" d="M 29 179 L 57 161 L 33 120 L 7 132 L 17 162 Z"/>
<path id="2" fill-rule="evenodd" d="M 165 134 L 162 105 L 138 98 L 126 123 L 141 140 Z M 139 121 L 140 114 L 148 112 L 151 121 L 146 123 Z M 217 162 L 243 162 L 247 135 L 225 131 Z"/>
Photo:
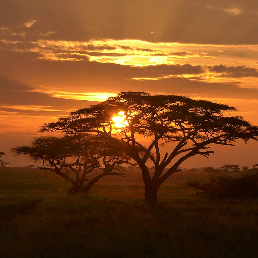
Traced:
<path id="1" fill-rule="evenodd" d="M 187 186 L 194 187 L 197 195 L 202 193 L 210 197 L 258 197 L 258 173 L 246 173 L 239 178 L 219 176 L 206 183 L 189 181 Z"/>

